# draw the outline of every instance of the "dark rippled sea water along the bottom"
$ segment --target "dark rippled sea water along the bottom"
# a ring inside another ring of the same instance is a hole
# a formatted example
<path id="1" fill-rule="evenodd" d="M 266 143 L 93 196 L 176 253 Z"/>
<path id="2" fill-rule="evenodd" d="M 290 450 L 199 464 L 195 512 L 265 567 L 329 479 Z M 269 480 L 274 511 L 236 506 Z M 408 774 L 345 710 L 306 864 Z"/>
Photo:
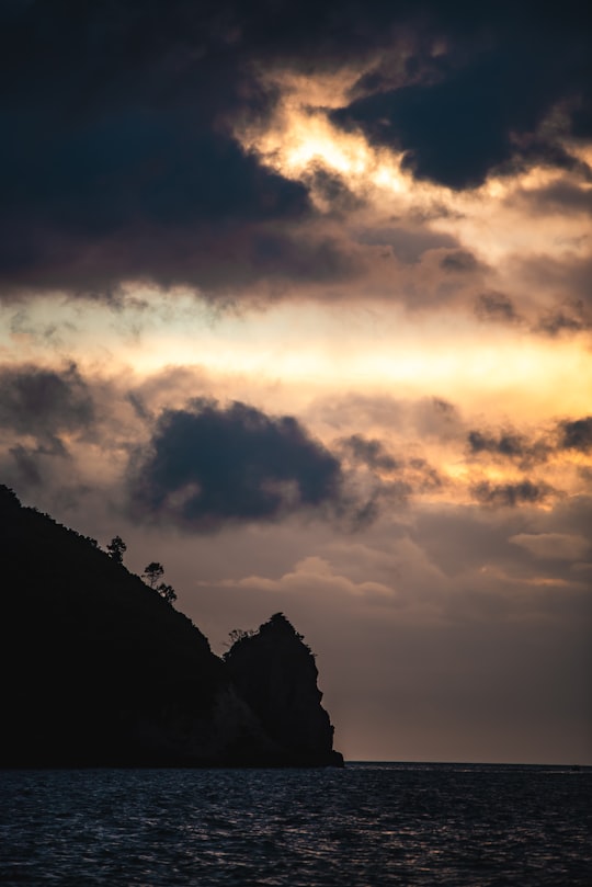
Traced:
<path id="1" fill-rule="evenodd" d="M 0 771 L 0 884 L 592 885 L 592 769 Z"/>

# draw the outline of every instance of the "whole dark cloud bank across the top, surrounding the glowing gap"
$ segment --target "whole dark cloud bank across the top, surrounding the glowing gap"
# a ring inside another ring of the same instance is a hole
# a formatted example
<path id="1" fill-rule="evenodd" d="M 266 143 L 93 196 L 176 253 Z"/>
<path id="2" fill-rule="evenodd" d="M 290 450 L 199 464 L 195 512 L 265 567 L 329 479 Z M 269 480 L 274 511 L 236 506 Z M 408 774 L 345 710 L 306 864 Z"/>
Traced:
<path id="1" fill-rule="evenodd" d="M 140 281 L 219 297 L 267 275 L 348 273 L 334 243 L 293 230 L 314 214 L 307 189 L 234 137 L 269 117 L 277 94 L 260 73 L 277 65 L 316 71 L 382 54 L 392 67 L 400 57 L 396 89 L 386 68 L 366 72 L 361 98 L 334 117 L 402 147 L 419 178 L 470 186 L 516 152 L 569 164 L 557 138 L 526 137 L 568 99 L 574 132 L 590 129 L 588 41 L 579 4 L 568 7 L 4 3 L 0 293 L 112 297 Z M 338 212 L 352 205 L 346 183 L 327 173 L 308 186 Z M 406 255 L 421 243 L 401 235 L 396 247 Z"/>

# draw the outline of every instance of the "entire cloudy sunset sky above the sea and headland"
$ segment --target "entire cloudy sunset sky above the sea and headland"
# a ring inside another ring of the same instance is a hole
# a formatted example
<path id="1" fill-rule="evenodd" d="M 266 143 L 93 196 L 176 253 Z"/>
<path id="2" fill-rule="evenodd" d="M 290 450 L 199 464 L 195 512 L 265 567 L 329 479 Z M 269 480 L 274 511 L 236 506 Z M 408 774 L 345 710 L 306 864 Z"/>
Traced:
<path id="1" fill-rule="evenodd" d="M 0 480 L 349 760 L 592 764 L 585 4 L 4 0 Z"/>

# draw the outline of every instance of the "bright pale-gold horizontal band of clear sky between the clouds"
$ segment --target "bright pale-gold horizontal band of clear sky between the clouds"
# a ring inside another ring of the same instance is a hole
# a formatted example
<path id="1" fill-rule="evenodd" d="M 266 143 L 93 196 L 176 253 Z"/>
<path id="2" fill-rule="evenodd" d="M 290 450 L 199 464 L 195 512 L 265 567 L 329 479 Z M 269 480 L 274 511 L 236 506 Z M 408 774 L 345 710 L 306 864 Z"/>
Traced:
<path id="1" fill-rule="evenodd" d="M 147 298 L 146 295 L 144 295 Z M 449 312 L 411 316 L 394 306 L 373 311 L 301 302 L 281 304 L 254 316 L 208 319 L 187 299 L 178 315 L 162 319 L 161 297 L 153 314 L 140 311 L 130 330 L 117 327 L 112 311 L 95 305 L 84 322 L 64 328 L 52 354 L 45 339 L 19 339 L 13 359 L 56 365 L 76 361 L 90 372 L 111 375 L 129 367 L 138 378 L 194 367 L 206 377 L 251 379 L 254 388 L 280 384 L 319 394 L 334 389 L 392 390 L 408 396 L 430 393 L 467 408 L 509 411 L 524 418 L 588 414 L 592 360 L 584 332 L 569 339 L 502 331 Z M 31 308 L 31 326 L 43 326 Z M 10 354 L 10 338 L 3 345 Z M 29 355 L 29 357 L 27 357 Z M 127 372 L 127 371 L 126 371 Z M 303 387 L 304 386 L 304 387 Z M 498 405 L 498 406 L 496 406 Z"/>

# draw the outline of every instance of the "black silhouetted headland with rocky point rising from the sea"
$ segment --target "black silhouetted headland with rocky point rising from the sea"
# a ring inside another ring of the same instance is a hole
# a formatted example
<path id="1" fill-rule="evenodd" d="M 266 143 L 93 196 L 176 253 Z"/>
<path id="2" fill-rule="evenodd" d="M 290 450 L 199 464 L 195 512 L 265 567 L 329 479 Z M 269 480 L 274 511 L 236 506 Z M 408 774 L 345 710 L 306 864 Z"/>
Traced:
<path id="1" fill-rule="evenodd" d="M 0 486 L 0 766 L 342 765 L 283 614 L 224 659 L 94 539 Z"/>

